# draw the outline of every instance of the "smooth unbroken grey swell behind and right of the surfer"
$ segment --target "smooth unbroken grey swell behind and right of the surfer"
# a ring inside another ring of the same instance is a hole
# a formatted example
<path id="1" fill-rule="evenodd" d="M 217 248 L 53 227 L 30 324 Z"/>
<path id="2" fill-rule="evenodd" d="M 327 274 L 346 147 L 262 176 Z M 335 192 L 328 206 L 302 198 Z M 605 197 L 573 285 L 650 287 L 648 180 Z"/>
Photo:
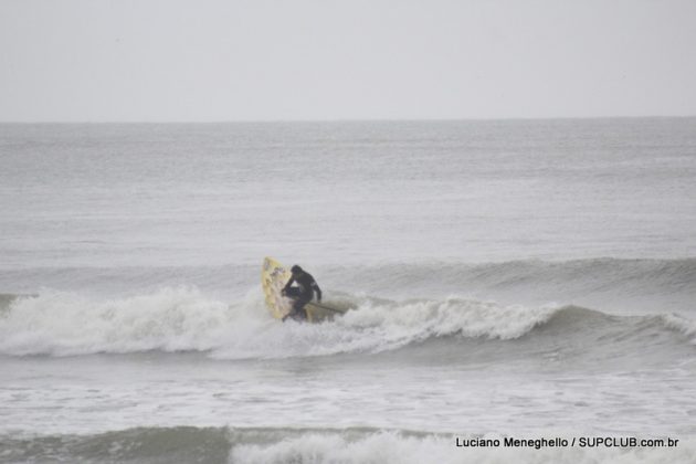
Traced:
<path id="1" fill-rule="evenodd" d="M 357 286 L 384 289 L 526 294 L 551 300 L 650 298 L 662 306 L 696 309 L 696 259 L 509 261 L 500 263 L 387 264 L 334 270 Z"/>

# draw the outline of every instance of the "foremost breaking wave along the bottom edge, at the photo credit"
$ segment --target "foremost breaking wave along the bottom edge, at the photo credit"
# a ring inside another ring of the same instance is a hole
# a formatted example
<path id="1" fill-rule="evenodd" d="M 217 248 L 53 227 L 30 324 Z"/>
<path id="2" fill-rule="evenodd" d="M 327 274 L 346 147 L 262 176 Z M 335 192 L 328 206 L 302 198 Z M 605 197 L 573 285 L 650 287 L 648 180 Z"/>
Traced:
<path id="1" fill-rule="evenodd" d="M 504 442 L 506 435 L 485 439 Z M 567 437 L 558 431 L 545 437 Z M 457 447 L 473 436 L 372 428 L 137 428 L 94 435 L 0 436 L 8 462 L 204 463 L 687 463 L 696 442 L 676 447 Z M 515 435 L 514 439 L 539 439 Z"/>

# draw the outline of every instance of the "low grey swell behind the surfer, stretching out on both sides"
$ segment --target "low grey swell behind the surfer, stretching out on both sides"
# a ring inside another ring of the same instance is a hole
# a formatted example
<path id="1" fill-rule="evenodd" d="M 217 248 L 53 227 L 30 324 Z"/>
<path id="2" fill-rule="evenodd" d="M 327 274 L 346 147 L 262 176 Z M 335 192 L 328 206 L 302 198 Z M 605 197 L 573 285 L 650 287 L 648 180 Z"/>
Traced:
<path id="1" fill-rule="evenodd" d="M 661 309 L 696 312 L 696 257 L 571 261 L 523 260 L 495 263 L 312 264 L 320 283 L 370 295 L 526 295 L 536 300 L 650 300 Z M 40 267 L 0 270 L 0 291 L 83 289 L 123 295 L 164 286 L 194 285 L 238 294 L 257 283 L 249 264 L 172 267 Z M 517 302 L 519 303 L 519 302 Z M 1 304 L 1 300 L 0 300 Z M 586 304 L 587 303 L 581 303 Z"/>

